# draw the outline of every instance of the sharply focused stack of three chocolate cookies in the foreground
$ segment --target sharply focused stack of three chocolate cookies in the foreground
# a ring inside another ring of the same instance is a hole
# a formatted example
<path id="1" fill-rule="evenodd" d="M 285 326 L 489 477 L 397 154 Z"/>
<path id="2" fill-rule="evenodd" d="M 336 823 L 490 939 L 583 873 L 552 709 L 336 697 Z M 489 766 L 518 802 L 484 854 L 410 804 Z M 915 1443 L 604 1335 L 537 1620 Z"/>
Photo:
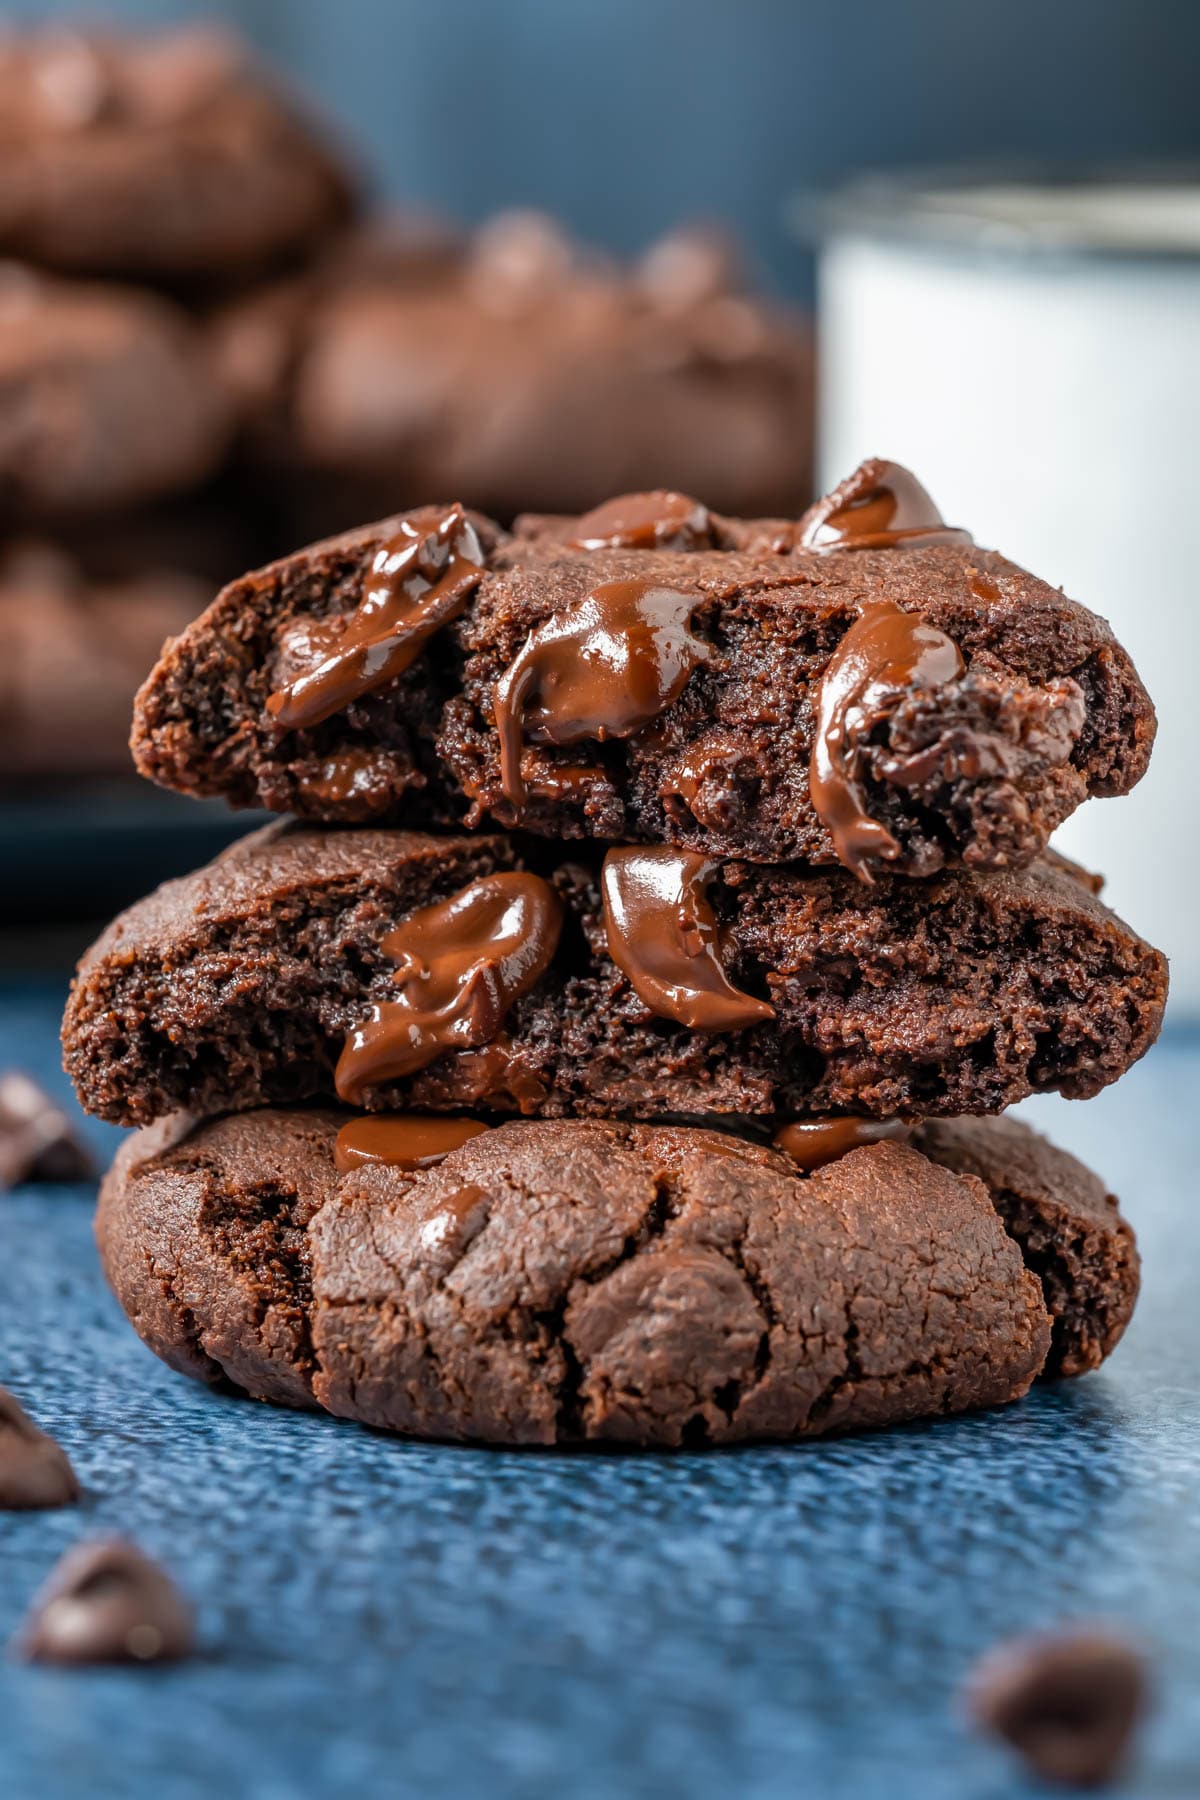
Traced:
<path id="1" fill-rule="evenodd" d="M 432 506 L 234 581 L 139 769 L 290 812 L 65 1019 L 139 1125 L 108 1276 L 175 1368 L 437 1438 L 696 1445 L 1013 1400 L 1137 1294 L 1009 1103 L 1164 959 L 1047 850 L 1144 772 L 1105 623 L 864 464 L 801 520 Z"/>

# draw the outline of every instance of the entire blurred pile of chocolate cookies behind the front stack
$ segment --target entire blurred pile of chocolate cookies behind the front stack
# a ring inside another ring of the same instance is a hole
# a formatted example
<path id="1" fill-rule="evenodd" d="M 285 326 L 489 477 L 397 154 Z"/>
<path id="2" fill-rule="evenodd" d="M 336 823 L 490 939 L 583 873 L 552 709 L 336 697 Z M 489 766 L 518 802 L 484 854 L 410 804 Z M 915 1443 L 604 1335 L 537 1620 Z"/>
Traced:
<path id="1" fill-rule="evenodd" d="M 124 770 L 214 581 L 428 493 L 808 499 L 808 329 L 720 239 L 374 218 L 338 137 L 218 29 L 0 38 L 0 781 Z"/>

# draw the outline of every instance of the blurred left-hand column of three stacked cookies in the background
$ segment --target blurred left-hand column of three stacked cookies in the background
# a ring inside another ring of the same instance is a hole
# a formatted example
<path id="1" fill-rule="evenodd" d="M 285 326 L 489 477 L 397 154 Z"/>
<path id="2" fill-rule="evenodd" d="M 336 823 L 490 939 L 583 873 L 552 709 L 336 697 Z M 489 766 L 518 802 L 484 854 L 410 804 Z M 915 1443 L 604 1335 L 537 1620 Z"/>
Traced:
<path id="1" fill-rule="evenodd" d="M 135 671 L 255 554 L 214 299 L 349 212 L 225 32 L 0 34 L 0 778 L 126 767 Z"/>

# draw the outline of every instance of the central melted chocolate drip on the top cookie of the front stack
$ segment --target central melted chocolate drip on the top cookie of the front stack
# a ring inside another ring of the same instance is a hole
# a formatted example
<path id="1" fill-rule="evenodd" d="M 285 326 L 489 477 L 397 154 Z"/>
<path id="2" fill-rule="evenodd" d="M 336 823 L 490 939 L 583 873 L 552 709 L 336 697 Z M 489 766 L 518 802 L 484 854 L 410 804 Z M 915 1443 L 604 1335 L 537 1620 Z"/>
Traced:
<path id="1" fill-rule="evenodd" d="M 653 581 L 608 581 L 529 634 L 495 689 L 500 787 L 525 805 L 522 743 L 630 738 L 684 691 L 712 655 L 691 635 L 698 594 Z"/>

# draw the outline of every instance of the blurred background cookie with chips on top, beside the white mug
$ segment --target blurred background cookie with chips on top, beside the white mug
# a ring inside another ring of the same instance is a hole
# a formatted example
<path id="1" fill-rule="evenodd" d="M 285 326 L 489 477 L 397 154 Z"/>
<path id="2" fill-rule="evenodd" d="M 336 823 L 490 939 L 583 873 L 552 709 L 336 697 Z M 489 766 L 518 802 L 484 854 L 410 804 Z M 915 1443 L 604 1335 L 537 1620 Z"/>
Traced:
<path id="1" fill-rule="evenodd" d="M 466 243 L 376 227 L 216 335 L 248 466 L 291 486 L 300 535 L 432 493 L 500 518 L 657 486 L 810 497 L 811 335 L 705 230 L 621 268 L 536 212 Z"/>

